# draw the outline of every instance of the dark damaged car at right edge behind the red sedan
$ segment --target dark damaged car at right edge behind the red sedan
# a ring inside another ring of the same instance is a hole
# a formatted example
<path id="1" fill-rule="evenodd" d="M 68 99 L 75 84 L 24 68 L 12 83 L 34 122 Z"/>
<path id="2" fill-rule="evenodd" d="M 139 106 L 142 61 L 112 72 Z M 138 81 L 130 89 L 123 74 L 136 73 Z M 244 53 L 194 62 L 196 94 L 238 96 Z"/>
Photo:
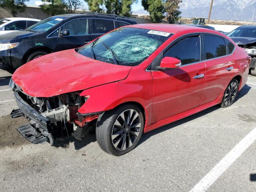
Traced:
<path id="1" fill-rule="evenodd" d="M 256 76 L 256 26 L 244 25 L 234 29 L 228 36 L 239 46 L 246 50 L 252 57 L 249 71 Z"/>

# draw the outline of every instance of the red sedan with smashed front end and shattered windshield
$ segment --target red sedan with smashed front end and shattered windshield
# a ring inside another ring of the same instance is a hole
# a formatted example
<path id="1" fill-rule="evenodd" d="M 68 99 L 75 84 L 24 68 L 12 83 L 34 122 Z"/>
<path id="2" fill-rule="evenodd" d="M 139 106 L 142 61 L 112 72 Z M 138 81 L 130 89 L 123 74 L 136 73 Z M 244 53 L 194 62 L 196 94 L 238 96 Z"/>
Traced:
<path id="1" fill-rule="evenodd" d="M 118 28 L 77 49 L 42 56 L 14 72 L 10 88 L 30 120 L 18 131 L 33 143 L 96 127 L 116 156 L 143 133 L 211 106 L 228 107 L 246 84 L 250 56 L 224 34 L 186 25 Z"/>

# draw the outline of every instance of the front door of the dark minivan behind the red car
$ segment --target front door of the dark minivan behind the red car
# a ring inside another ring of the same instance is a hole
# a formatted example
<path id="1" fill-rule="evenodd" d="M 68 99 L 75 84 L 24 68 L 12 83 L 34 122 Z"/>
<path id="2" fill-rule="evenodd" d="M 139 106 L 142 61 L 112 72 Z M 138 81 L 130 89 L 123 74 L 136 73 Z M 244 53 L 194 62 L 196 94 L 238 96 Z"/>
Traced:
<path id="1" fill-rule="evenodd" d="M 69 30 L 69 34 L 58 36 L 58 50 L 73 49 L 90 42 L 92 36 L 90 34 L 90 29 L 88 28 L 89 19 L 78 18 L 67 22 L 60 27 L 60 32 L 62 30 Z"/>

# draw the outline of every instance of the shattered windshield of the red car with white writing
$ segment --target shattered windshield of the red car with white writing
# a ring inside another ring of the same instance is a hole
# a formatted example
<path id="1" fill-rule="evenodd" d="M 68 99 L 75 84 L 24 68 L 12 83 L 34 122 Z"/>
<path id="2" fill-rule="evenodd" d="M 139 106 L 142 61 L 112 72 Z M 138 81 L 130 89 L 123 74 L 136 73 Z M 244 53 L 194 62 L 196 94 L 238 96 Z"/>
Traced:
<path id="1" fill-rule="evenodd" d="M 118 28 L 78 49 L 78 53 L 99 61 L 136 66 L 152 54 L 172 34 L 141 29 Z"/>

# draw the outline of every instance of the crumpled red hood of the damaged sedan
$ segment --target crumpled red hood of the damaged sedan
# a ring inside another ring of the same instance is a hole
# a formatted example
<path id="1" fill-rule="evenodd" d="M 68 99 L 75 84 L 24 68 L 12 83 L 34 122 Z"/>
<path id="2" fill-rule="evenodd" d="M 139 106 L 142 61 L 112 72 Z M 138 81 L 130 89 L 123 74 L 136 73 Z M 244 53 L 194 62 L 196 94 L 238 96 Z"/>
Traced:
<path id="1" fill-rule="evenodd" d="M 65 50 L 32 60 L 12 75 L 33 97 L 51 97 L 125 79 L 132 67 L 94 60 Z"/>

